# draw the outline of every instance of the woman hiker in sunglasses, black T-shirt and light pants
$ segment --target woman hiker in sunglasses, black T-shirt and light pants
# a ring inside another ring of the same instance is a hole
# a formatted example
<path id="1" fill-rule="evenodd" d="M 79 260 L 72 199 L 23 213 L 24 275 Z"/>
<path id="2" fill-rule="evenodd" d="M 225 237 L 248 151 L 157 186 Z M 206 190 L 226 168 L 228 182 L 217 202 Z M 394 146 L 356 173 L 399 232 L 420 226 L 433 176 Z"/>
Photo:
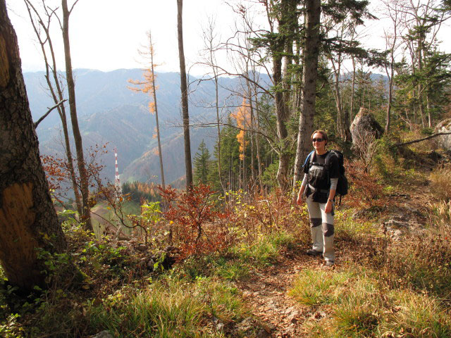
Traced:
<path id="1" fill-rule="evenodd" d="M 311 135 L 314 146 L 304 162 L 304 180 L 297 195 L 297 204 L 305 200 L 309 210 L 311 239 L 313 247 L 307 251 L 310 256 L 323 255 L 327 266 L 333 266 L 333 205 L 340 167 L 337 156 L 326 150 L 327 134 L 316 130 Z M 326 162 L 326 157 L 327 162 Z"/>

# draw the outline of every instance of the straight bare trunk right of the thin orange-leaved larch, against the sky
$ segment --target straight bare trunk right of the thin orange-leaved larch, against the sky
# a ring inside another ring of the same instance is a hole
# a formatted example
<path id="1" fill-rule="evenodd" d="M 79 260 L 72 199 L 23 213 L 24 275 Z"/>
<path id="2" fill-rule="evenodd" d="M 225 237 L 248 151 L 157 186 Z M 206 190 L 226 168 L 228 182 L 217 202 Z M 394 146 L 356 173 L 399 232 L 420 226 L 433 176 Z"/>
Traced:
<path id="1" fill-rule="evenodd" d="M 185 69 L 185 53 L 183 51 L 183 0 L 177 0 L 177 32 L 178 32 L 178 57 L 180 60 L 180 91 L 182 92 L 183 137 L 185 139 L 185 170 L 186 188 L 192 188 L 192 164 L 190 142 L 190 115 L 188 113 L 188 92 Z"/>

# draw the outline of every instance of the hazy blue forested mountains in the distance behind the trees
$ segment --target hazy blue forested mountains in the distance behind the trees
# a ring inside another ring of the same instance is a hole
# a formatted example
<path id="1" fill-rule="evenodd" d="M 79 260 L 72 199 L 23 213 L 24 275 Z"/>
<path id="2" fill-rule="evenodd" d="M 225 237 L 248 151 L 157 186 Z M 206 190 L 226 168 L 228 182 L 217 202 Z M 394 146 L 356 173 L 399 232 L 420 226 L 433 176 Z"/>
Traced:
<path id="1" fill-rule="evenodd" d="M 150 115 L 147 94 L 132 92 L 128 89 L 129 79 L 142 79 L 140 69 L 120 69 L 112 72 L 99 70 L 75 70 L 75 96 L 80 130 L 85 149 L 95 144 L 108 143 L 109 154 L 101 158 L 106 165 L 104 174 L 114 178 L 113 148 L 118 149 L 118 167 L 121 181 L 152 180 L 160 182 L 159 158 L 156 138 L 155 117 Z M 53 106 L 44 79 L 44 72 L 24 73 L 25 86 L 34 120 L 37 120 Z M 190 89 L 190 121 L 214 122 L 216 111 L 214 104 L 214 83 L 211 81 L 194 82 Z M 266 77 L 267 80 L 267 77 Z M 167 183 L 182 182 L 185 175 L 185 155 L 183 153 L 183 130 L 180 127 L 180 75 L 178 73 L 158 73 L 157 91 L 163 165 Z M 236 106 L 241 99 L 229 97 L 225 88 L 239 87 L 239 80 L 222 77 L 219 81 L 220 102 L 228 101 Z M 233 108 L 230 108 L 233 110 Z M 37 134 L 41 154 L 63 156 L 61 121 L 53 111 L 39 126 Z M 216 131 L 211 127 L 191 128 L 192 157 L 204 139 L 210 151 L 213 151 Z"/>

